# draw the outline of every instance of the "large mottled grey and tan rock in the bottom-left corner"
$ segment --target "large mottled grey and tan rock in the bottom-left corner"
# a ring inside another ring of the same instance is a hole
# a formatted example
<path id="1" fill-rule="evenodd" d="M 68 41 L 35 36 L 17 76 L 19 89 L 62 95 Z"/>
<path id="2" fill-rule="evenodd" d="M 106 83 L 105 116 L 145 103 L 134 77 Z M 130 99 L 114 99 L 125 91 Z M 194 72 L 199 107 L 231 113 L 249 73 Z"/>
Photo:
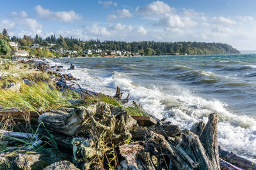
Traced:
<path id="1" fill-rule="evenodd" d="M 67 155 L 54 150 L 40 150 L 38 152 L 18 153 L 8 157 L 10 169 L 44 169 L 54 162 L 67 159 Z"/>

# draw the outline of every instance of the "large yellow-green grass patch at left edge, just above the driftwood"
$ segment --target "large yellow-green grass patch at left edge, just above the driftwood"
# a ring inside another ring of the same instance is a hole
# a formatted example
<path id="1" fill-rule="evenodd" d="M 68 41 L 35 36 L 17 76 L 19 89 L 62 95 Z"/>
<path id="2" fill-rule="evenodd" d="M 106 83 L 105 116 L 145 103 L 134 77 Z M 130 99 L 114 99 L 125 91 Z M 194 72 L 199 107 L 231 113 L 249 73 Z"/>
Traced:
<path id="1" fill-rule="evenodd" d="M 70 105 L 60 91 L 50 89 L 47 83 L 32 86 L 22 83 L 20 93 L 10 90 L 0 91 L 0 106 L 37 111 L 39 108 L 53 110 Z"/>

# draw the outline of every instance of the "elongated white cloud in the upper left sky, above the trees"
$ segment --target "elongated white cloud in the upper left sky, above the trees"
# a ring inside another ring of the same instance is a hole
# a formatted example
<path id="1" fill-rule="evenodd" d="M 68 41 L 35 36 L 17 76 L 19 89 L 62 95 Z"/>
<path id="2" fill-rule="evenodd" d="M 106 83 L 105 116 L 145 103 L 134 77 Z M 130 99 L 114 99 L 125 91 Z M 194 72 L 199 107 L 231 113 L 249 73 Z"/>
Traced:
<path id="1" fill-rule="evenodd" d="M 78 15 L 73 10 L 71 11 L 50 11 L 48 9 L 43 8 L 40 5 L 35 7 L 35 10 L 39 17 L 47 19 L 47 20 L 58 20 L 61 22 L 72 22 L 74 20 L 81 20 L 81 15 Z"/>

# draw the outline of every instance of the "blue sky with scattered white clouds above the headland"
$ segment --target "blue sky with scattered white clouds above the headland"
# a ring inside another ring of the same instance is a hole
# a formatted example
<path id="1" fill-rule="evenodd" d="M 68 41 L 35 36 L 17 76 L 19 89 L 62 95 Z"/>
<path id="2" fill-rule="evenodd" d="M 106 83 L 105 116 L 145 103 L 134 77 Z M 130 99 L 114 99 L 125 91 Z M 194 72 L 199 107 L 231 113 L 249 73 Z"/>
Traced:
<path id="1" fill-rule="evenodd" d="M 0 0 L 10 36 L 203 41 L 256 50 L 255 0 Z"/>

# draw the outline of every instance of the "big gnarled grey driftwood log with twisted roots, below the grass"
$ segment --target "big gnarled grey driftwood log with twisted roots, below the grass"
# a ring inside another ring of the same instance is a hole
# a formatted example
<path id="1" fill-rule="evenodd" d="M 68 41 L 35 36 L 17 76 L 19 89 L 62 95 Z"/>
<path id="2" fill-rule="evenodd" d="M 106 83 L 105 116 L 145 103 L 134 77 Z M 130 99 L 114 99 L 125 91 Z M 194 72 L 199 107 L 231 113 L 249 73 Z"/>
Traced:
<path id="1" fill-rule="evenodd" d="M 131 138 L 129 131 L 136 125 L 136 120 L 127 111 L 104 102 L 87 107 L 52 110 L 40 115 L 38 122 L 44 122 L 51 131 L 68 136 L 82 133 L 89 135 L 93 127 L 96 127 L 99 138 L 113 138 L 115 143 Z"/>

